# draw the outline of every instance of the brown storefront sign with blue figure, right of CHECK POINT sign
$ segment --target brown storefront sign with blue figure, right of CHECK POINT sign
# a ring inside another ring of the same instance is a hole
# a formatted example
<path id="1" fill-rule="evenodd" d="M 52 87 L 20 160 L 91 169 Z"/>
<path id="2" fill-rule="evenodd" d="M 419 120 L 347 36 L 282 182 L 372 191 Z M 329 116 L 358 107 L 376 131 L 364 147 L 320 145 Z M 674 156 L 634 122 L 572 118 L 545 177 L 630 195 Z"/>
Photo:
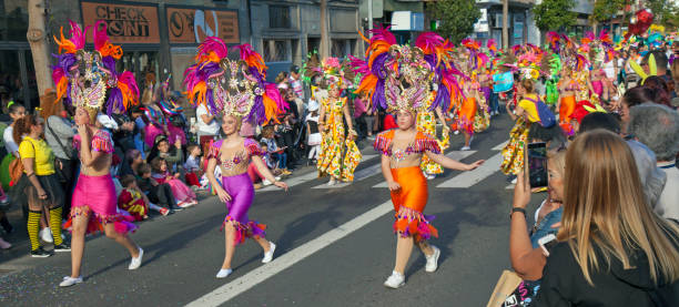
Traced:
<path id="1" fill-rule="evenodd" d="M 200 43 L 206 37 L 217 37 L 226 43 L 241 42 L 236 11 L 170 6 L 165 10 L 170 43 Z"/>

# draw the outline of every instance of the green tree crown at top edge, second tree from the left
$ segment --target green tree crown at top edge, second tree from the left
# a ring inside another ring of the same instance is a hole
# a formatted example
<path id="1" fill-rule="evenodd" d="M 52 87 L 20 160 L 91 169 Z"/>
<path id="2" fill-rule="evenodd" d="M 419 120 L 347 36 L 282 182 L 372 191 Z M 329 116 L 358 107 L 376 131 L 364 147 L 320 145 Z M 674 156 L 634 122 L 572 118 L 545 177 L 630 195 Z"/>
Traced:
<path id="1" fill-rule="evenodd" d="M 558 31 L 575 25 L 578 14 L 570 11 L 574 0 L 543 0 L 533 7 L 535 24 L 541 31 Z"/>

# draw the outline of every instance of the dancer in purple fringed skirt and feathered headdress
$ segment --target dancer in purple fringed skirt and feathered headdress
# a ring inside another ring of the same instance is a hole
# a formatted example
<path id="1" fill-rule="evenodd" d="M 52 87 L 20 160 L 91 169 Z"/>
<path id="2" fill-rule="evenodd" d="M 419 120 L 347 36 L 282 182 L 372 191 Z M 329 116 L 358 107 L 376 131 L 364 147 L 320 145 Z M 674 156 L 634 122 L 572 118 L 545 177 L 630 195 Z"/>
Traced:
<path id="1" fill-rule="evenodd" d="M 239 133 L 242 121 L 259 125 L 275 121 L 286 105 L 276 85 L 265 82 L 266 66 L 262 57 L 249 44 L 236 48 L 241 59 L 232 61 L 227 58 L 224 41 L 209 37 L 199 47 L 196 63 L 184 73 L 192 105 L 204 104 L 212 115 L 222 114 L 222 131 L 226 134 L 224 140 L 212 142 L 206 153 L 205 174 L 229 211 L 222 223 L 222 228 L 225 228 L 225 256 L 216 278 L 225 278 L 233 272 L 231 262 L 235 246 L 245 238 L 252 237 L 262 246 L 262 263 L 270 263 L 276 248 L 275 244 L 264 238 L 266 226 L 247 217 L 254 197 L 254 187 L 247 175 L 250 163 L 254 163 L 266 180 L 287 191 L 287 185 L 276 181 L 262 161 L 266 152 L 255 141 Z M 221 168 L 221 183 L 214 176 L 217 165 Z"/>

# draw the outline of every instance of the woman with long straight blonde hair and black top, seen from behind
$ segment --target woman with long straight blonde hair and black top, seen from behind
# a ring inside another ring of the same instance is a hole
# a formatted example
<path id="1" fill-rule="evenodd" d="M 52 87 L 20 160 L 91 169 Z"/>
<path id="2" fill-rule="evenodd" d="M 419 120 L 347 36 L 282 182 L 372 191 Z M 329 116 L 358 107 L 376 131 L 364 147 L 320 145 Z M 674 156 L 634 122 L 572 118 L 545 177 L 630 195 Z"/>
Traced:
<path id="1" fill-rule="evenodd" d="M 679 227 L 647 204 L 620 136 L 595 130 L 576 139 L 564 196 L 535 306 L 679 306 Z"/>

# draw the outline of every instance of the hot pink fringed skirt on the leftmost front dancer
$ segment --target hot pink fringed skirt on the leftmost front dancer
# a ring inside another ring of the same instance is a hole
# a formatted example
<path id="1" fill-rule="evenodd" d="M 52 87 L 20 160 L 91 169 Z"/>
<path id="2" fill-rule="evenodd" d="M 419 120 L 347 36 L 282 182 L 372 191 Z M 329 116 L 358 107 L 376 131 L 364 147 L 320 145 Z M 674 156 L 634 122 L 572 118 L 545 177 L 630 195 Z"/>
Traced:
<path id="1" fill-rule="evenodd" d="M 115 186 L 111 175 L 88 176 L 80 174 L 73 199 L 71 202 L 71 217 L 63 225 L 70 229 L 73 217 L 89 217 L 87 233 L 104 232 L 104 226 L 113 223 L 115 232 L 120 234 L 133 233 L 136 225 L 132 224 L 134 217 L 126 212 L 118 211 Z"/>

